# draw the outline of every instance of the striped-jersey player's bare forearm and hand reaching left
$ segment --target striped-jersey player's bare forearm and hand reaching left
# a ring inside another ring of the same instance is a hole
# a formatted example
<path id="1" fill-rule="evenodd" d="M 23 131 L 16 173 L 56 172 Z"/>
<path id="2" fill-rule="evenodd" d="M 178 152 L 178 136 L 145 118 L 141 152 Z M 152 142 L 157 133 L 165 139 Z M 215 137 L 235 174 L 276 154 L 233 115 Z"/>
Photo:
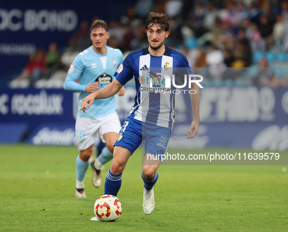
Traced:
<path id="1" fill-rule="evenodd" d="M 86 109 L 88 110 L 90 105 L 93 104 L 95 99 L 103 99 L 103 98 L 110 98 L 113 95 L 115 95 L 119 90 L 123 87 L 123 84 L 118 82 L 116 79 L 113 80 L 110 84 L 107 84 L 105 87 L 103 87 L 101 90 L 89 94 L 86 98 L 82 100 L 81 108 L 80 110 L 83 110 L 85 113 Z M 88 103 L 87 107 L 85 105 Z"/>

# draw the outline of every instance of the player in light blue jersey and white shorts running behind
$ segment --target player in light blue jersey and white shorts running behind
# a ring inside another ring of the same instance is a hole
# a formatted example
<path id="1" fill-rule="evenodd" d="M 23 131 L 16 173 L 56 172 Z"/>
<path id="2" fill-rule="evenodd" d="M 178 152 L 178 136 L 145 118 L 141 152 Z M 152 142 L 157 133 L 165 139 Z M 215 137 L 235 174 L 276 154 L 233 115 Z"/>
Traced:
<path id="1" fill-rule="evenodd" d="M 114 73 L 123 61 L 123 54 L 119 49 L 106 45 L 109 33 L 105 21 L 96 20 L 93 22 L 90 37 L 93 45 L 77 55 L 64 82 L 64 89 L 80 92 L 75 126 L 77 147 L 80 151 L 76 158 L 76 198 L 86 198 L 84 177 L 98 133 L 107 147 L 91 163 L 93 170 L 92 183 L 96 188 L 101 185 L 100 168 L 113 158 L 113 144 L 121 129 L 116 112 L 115 96 L 96 100 L 87 114 L 80 110 L 83 98 L 112 83 Z M 79 84 L 77 83 L 78 79 Z M 124 93 L 125 88 L 121 88 L 118 95 L 123 96 Z"/>

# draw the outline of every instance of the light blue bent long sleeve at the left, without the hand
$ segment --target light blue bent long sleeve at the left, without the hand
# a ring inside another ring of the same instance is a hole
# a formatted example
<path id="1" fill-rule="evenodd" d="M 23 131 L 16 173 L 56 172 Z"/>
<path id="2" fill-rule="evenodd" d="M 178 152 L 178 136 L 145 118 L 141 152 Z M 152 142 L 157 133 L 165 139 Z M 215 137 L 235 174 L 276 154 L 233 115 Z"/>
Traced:
<path id="1" fill-rule="evenodd" d="M 76 81 L 81 77 L 83 71 L 84 64 L 79 58 L 79 55 L 77 55 L 74 62 L 70 65 L 67 77 L 63 85 L 64 89 L 72 92 L 85 92 L 87 85 L 76 83 Z"/>

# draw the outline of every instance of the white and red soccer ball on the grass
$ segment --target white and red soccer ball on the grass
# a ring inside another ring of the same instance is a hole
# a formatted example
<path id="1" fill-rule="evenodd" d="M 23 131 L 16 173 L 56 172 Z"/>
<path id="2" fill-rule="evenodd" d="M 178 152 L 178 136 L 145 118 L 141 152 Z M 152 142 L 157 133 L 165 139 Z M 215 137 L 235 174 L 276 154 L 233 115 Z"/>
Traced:
<path id="1" fill-rule="evenodd" d="M 121 202 L 113 195 L 100 196 L 94 204 L 94 213 L 101 222 L 114 222 L 122 213 Z"/>

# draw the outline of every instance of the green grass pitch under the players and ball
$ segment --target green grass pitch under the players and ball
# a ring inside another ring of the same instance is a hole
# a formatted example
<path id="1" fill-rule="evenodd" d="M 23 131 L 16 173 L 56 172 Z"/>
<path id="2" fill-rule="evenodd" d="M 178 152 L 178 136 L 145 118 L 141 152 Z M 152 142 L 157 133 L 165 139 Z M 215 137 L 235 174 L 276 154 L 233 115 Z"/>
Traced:
<path id="1" fill-rule="evenodd" d="M 103 185 L 92 186 L 90 167 L 87 199 L 74 198 L 77 155 L 76 147 L 0 145 L 0 231 L 288 231 L 287 166 L 160 166 L 156 207 L 146 215 L 137 150 L 118 193 L 123 213 L 102 223 L 90 221 L 104 194 Z M 110 164 L 102 171 L 103 183 Z"/>

